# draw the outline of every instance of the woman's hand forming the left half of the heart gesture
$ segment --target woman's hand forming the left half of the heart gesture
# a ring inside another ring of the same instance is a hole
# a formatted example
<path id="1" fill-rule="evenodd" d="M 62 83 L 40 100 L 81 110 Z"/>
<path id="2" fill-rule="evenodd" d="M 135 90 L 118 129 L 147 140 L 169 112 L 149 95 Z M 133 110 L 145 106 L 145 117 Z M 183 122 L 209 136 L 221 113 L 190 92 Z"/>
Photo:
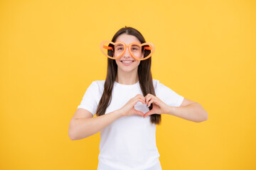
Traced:
<path id="1" fill-rule="evenodd" d="M 122 108 L 119 109 L 119 112 L 122 115 L 141 115 L 143 116 L 144 113 L 141 111 L 137 111 L 134 106 L 136 105 L 136 103 L 140 101 L 143 104 L 145 103 L 145 97 L 142 96 L 142 94 L 137 94 L 137 96 L 135 96 L 134 98 L 131 98 Z"/>

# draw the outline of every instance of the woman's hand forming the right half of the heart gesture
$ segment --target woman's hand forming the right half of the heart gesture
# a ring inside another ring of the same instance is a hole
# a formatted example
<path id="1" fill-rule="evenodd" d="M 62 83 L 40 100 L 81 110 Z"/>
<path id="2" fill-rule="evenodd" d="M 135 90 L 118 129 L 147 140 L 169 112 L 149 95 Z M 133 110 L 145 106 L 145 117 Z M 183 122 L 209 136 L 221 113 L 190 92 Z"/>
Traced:
<path id="1" fill-rule="evenodd" d="M 151 111 L 148 111 L 147 113 L 144 114 L 144 118 L 148 115 L 152 114 L 169 114 L 170 113 L 170 106 L 166 105 L 163 101 L 161 101 L 158 97 L 152 95 L 152 94 L 147 94 L 145 96 L 146 98 L 146 104 L 148 107 L 153 103 L 153 108 Z"/>

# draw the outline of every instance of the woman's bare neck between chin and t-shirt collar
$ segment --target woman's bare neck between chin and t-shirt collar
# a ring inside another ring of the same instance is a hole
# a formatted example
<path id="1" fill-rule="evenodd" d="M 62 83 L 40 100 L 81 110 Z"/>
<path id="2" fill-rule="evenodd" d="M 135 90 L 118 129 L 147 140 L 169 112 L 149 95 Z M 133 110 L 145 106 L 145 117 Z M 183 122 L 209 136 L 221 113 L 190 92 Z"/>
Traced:
<path id="1" fill-rule="evenodd" d="M 135 69 L 132 72 L 122 72 L 117 69 L 117 77 L 115 79 L 119 84 L 132 85 L 139 81 L 138 70 Z"/>

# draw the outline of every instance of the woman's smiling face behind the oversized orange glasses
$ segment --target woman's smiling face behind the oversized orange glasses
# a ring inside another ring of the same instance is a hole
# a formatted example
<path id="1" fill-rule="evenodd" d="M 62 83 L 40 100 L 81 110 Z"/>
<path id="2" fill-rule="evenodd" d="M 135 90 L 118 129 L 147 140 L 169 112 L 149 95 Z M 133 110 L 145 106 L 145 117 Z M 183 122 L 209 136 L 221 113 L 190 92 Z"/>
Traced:
<path id="1" fill-rule="evenodd" d="M 134 35 L 121 34 L 117 37 L 116 42 L 124 42 L 126 45 L 131 44 L 132 42 L 139 42 L 138 38 Z M 122 49 L 119 46 L 114 47 L 114 57 L 119 55 L 121 50 L 125 50 L 124 55 L 115 60 L 117 62 L 117 72 L 137 72 L 140 61 L 135 60 L 134 57 L 129 53 L 128 48 Z M 142 50 L 137 49 L 137 47 L 131 48 L 133 54 L 136 54 L 136 57 L 143 57 Z"/>

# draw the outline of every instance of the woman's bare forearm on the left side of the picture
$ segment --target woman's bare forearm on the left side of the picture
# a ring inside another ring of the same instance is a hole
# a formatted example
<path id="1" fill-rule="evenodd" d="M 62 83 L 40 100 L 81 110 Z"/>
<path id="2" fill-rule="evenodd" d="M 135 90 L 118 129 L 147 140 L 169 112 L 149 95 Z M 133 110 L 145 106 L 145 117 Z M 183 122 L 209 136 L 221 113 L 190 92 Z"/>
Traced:
<path id="1" fill-rule="evenodd" d="M 73 134 L 72 140 L 81 140 L 85 137 L 94 135 L 122 116 L 123 115 L 119 113 L 119 111 L 114 111 L 95 118 L 74 119 L 70 122 L 70 133 Z"/>

